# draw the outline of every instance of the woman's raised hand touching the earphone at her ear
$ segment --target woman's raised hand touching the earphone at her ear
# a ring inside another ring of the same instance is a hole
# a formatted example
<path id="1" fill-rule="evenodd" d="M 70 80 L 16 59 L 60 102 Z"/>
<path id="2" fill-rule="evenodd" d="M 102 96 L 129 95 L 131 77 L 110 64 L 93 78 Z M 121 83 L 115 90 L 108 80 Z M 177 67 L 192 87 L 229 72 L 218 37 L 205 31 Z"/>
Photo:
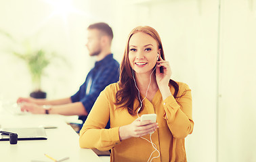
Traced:
<path id="1" fill-rule="evenodd" d="M 171 67 L 169 65 L 169 61 L 165 61 L 162 59 L 161 55 L 159 55 L 159 61 L 156 62 L 156 82 L 158 87 L 168 86 L 169 80 L 171 78 Z M 160 68 L 163 67 L 163 72 L 160 72 Z"/>

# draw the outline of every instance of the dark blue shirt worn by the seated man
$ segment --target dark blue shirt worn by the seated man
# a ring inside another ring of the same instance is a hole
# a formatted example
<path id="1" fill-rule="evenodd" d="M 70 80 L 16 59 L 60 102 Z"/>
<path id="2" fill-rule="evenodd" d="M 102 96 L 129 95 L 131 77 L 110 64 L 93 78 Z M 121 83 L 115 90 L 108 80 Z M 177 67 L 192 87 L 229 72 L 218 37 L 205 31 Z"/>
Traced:
<path id="1" fill-rule="evenodd" d="M 104 59 L 95 62 L 94 68 L 87 74 L 85 82 L 80 86 L 79 91 L 72 95 L 71 101 L 81 102 L 87 113 L 91 111 L 94 102 L 100 92 L 108 84 L 119 80 L 119 63 L 113 58 L 113 54 L 107 55 Z M 80 116 L 85 122 L 87 116 Z M 110 127 L 109 124 L 107 127 Z"/>

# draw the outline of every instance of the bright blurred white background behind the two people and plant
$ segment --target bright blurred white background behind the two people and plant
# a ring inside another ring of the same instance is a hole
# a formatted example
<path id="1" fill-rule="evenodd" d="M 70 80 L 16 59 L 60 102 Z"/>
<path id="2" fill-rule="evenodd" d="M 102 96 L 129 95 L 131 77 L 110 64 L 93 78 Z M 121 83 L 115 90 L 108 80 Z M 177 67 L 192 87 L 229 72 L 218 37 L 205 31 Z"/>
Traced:
<path id="1" fill-rule="evenodd" d="M 35 88 L 17 53 L 48 55 L 47 99 L 77 92 L 94 65 L 85 43 L 95 22 L 112 27 L 119 63 L 135 26 L 158 31 L 171 77 L 192 89 L 188 161 L 256 161 L 256 0 L 0 0 L 0 106 Z"/>

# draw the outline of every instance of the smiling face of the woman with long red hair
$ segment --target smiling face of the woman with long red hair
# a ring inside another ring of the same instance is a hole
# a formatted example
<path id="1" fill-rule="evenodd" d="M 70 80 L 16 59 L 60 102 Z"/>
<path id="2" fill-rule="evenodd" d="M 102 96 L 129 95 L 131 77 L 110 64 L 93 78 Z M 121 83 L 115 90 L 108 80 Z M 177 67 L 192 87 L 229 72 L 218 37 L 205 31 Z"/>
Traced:
<path id="1" fill-rule="evenodd" d="M 136 32 L 129 41 L 129 61 L 137 74 L 151 73 L 158 56 L 156 40 L 144 32 Z"/>

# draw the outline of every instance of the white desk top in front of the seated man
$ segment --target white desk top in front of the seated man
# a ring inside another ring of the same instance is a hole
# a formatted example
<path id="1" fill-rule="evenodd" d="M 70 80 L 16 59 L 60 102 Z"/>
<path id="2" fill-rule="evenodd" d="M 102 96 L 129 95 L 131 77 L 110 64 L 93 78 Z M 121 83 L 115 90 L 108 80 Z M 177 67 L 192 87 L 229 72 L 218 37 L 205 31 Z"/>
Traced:
<path id="1" fill-rule="evenodd" d="M 1 107 L 0 107 L 1 108 Z M 48 154 L 56 159 L 69 157 L 64 162 L 95 161 L 100 158 L 87 148 L 80 148 L 79 136 L 68 126 L 62 115 L 14 115 L 0 109 L 1 128 L 25 128 L 41 125 L 57 126 L 46 129 L 47 140 L 18 140 L 18 144 L 9 144 L 9 141 L 0 141 L 0 161 L 3 162 L 30 162 L 35 159 L 44 159 Z M 52 161 L 46 159 L 45 161 Z"/>

